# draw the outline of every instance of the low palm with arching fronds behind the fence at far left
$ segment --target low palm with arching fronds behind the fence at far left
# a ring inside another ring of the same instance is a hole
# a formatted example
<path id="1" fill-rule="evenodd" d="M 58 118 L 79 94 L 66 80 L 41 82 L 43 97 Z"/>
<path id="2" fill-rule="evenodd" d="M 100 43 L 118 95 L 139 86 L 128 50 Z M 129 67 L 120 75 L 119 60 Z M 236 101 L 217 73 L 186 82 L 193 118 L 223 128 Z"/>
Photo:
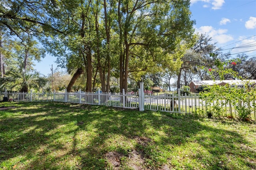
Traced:
<path id="1" fill-rule="evenodd" d="M 9 71 L 6 77 L 0 78 L 0 88 L 3 87 L 28 92 L 29 89 L 40 90 L 47 83 L 45 77 L 41 77 L 38 72 L 28 72 L 24 69 L 19 71 Z"/>

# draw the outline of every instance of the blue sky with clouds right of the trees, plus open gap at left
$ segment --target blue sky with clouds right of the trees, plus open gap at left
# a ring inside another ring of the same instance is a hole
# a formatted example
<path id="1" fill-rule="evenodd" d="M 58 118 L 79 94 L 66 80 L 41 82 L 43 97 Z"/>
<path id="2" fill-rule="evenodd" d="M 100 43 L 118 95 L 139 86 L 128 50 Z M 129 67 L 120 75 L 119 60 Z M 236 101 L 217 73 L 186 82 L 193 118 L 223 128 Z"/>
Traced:
<path id="1" fill-rule="evenodd" d="M 190 0 L 196 32 L 209 35 L 223 52 L 256 55 L 256 0 Z M 248 51 L 248 52 L 246 52 Z M 36 70 L 44 75 L 57 68 L 55 57 L 46 55 Z"/>

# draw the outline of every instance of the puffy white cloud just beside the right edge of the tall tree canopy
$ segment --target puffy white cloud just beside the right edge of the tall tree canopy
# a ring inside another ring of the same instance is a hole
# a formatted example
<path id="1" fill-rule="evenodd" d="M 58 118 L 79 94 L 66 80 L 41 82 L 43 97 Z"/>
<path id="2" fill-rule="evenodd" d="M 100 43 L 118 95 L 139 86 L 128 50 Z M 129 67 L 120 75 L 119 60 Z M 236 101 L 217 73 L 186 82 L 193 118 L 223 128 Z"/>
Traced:
<path id="1" fill-rule="evenodd" d="M 220 44 L 224 44 L 226 42 L 234 40 L 234 38 L 231 35 L 226 34 L 228 30 L 216 30 L 212 26 L 202 26 L 196 29 L 196 32 L 198 32 L 199 34 L 206 34 L 212 38 L 213 42 L 217 42 Z"/>

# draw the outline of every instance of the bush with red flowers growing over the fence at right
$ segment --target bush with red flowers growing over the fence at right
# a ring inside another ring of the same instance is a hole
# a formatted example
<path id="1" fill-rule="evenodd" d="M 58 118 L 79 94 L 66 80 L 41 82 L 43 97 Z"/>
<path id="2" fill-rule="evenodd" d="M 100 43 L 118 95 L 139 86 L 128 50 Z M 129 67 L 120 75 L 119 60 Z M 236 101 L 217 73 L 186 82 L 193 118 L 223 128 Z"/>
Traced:
<path id="1" fill-rule="evenodd" d="M 243 105 L 246 105 L 248 107 L 248 110 L 251 110 L 250 101 L 255 100 L 256 96 L 256 88 L 251 88 L 250 83 L 243 80 L 242 77 L 238 75 L 238 72 L 234 71 L 230 66 L 236 67 L 235 61 L 220 61 L 220 59 L 217 59 L 214 62 L 214 69 L 208 69 L 208 74 L 212 78 L 212 80 L 225 80 L 225 77 L 233 77 L 234 79 L 241 80 L 241 82 L 244 84 L 244 88 L 238 88 L 238 87 L 232 87 L 230 84 L 226 85 L 218 85 L 217 83 L 212 86 L 207 86 L 207 91 L 200 92 L 200 96 L 202 99 L 207 99 L 205 101 L 205 106 L 207 107 L 206 110 L 210 111 L 211 113 L 214 113 L 215 116 L 220 116 L 221 112 L 224 113 L 224 110 L 221 110 L 223 106 L 228 106 L 230 110 L 233 110 L 230 112 L 230 115 L 232 116 L 232 113 L 234 112 L 234 109 L 237 111 L 237 113 L 240 113 L 242 111 Z M 215 103 L 214 103 L 215 101 Z M 210 107 L 212 106 L 212 107 Z M 222 107 L 220 107 L 222 106 Z M 256 105 L 254 104 L 254 107 Z M 215 110 L 214 110 L 215 108 Z M 226 111 L 230 111 L 229 109 Z M 236 116 L 239 117 L 239 115 Z"/>

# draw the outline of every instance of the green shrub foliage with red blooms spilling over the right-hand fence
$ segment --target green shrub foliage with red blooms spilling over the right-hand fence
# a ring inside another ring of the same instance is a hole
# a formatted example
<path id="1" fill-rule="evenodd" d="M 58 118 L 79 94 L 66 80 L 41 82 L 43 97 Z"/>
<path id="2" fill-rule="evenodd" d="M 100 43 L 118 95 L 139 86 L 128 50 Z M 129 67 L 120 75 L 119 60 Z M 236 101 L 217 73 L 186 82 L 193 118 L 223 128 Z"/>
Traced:
<path id="1" fill-rule="evenodd" d="M 255 87 L 251 87 L 251 84 L 249 82 L 242 80 L 242 78 L 238 76 L 238 73 L 236 71 L 230 69 L 230 65 L 236 65 L 236 62 L 234 60 L 222 62 L 219 59 L 216 59 L 214 63 L 216 65 L 216 69 L 208 70 L 208 73 L 212 76 L 212 79 L 215 80 L 216 77 L 213 72 L 216 72 L 218 73 L 218 77 L 220 77 L 221 80 L 224 80 L 224 77 L 226 77 L 227 75 L 235 77 L 237 79 L 241 79 L 244 87 L 231 87 L 231 85 L 229 84 L 214 84 L 212 86 L 208 86 L 205 91 L 200 92 L 201 97 L 206 99 L 206 107 L 209 108 L 213 101 L 217 101 L 218 104 L 216 106 L 229 105 L 231 116 L 232 107 L 235 107 L 235 109 L 239 113 L 240 119 L 244 119 L 244 116 L 241 117 L 241 115 L 246 115 L 245 113 L 248 113 L 250 111 L 250 108 L 241 107 L 241 103 L 243 103 L 244 105 L 250 105 L 249 101 L 255 98 Z M 218 111 L 217 108 L 216 110 Z"/>

